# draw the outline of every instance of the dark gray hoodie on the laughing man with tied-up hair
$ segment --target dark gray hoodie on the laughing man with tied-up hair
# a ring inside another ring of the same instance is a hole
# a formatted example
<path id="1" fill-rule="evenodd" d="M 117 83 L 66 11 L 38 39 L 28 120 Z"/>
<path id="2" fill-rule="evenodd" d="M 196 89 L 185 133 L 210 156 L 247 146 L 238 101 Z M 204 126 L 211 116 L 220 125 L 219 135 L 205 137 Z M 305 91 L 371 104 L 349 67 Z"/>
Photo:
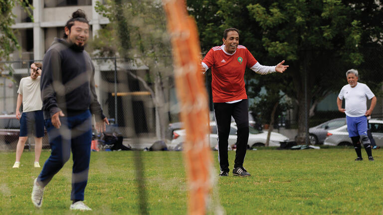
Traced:
<path id="1" fill-rule="evenodd" d="M 76 51 L 66 40 L 54 38 L 42 64 L 44 119 L 60 110 L 74 116 L 88 109 L 97 121 L 105 118 L 94 87 L 94 65 L 86 51 Z"/>

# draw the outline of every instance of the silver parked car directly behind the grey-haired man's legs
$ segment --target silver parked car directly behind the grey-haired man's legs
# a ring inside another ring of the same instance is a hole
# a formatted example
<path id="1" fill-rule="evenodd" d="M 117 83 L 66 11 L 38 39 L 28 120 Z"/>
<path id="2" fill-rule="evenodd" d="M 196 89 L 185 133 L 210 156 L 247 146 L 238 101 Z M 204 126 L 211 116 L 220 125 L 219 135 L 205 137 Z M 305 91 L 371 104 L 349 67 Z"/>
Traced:
<path id="1" fill-rule="evenodd" d="M 383 147 L 383 120 L 370 119 L 369 128 L 377 146 Z M 353 145 L 347 131 L 347 124 L 327 132 L 327 137 L 324 141 L 325 145 Z"/>

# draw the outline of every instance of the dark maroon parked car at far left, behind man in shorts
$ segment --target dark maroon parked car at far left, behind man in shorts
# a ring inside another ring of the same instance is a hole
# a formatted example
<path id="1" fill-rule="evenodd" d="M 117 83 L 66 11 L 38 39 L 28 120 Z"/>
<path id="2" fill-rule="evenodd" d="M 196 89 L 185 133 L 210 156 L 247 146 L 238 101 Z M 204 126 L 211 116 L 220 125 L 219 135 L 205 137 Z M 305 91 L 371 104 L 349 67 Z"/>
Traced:
<path id="1" fill-rule="evenodd" d="M 42 147 L 49 148 L 49 140 L 45 130 L 45 135 L 42 138 Z M 18 137 L 20 135 L 20 121 L 16 115 L 0 115 L 0 145 L 2 149 L 16 149 Z M 28 138 L 25 147 L 34 145 L 34 139 Z"/>

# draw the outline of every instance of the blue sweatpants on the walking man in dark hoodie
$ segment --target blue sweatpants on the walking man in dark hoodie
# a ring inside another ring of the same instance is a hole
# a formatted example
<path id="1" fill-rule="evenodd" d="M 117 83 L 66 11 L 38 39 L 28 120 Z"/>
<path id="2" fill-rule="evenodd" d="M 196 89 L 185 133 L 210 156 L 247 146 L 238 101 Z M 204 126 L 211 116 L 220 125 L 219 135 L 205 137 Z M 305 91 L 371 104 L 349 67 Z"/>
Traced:
<path id="1" fill-rule="evenodd" d="M 89 110 L 75 116 L 60 117 L 59 129 L 45 119 L 51 154 L 45 161 L 37 181 L 46 186 L 53 176 L 73 155 L 71 200 L 84 200 L 84 190 L 88 182 L 90 145 L 92 141 L 92 117 Z"/>

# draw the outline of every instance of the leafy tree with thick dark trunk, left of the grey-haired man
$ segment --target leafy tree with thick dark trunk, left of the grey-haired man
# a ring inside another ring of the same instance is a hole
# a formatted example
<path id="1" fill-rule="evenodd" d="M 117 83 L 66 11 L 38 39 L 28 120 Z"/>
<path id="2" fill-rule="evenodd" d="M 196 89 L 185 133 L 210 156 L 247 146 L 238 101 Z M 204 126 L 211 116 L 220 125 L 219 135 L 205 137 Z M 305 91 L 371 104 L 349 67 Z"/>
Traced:
<path id="1" fill-rule="evenodd" d="M 247 8 L 263 30 L 268 55 L 284 56 L 290 64 L 286 80 L 291 84 L 282 91 L 297 101 L 298 142 L 303 143 L 305 105 L 313 109 L 329 93 L 339 91 L 345 82 L 343 71 L 364 62 L 361 46 L 366 26 L 354 5 L 341 0 L 280 0 Z"/>

